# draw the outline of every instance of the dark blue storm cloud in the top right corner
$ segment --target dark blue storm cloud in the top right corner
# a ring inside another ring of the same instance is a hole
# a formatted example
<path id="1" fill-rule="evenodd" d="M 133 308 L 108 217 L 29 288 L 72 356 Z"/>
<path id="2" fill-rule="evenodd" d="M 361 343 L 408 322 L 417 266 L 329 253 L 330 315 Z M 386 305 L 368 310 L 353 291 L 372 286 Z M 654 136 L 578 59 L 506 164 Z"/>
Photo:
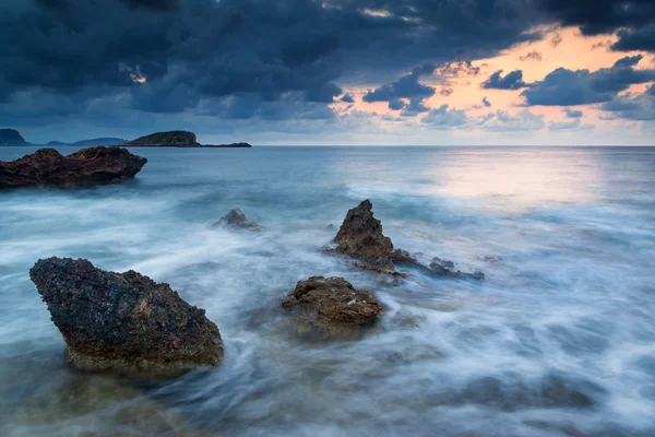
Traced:
<path id="1" fill-rule="evenodd" d="M 615 50 L 653 50 L 653 0 L 536 0 L 538 8 L 564 26 L 580 26 L 583 35 L 614 34 Z"/>

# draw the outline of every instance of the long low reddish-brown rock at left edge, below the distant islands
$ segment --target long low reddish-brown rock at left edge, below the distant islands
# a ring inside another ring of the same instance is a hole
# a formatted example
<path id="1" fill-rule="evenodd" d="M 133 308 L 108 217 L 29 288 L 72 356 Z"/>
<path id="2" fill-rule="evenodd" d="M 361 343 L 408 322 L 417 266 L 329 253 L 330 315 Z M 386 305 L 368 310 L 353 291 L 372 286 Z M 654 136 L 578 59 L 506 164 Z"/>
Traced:
<path id="1" fill-rule="evenodd" d="M 83 149 L 68 156 L 41 149 L 13 162 L 0 162 L 0 188 L 106 184 L 133 178 L 146 162 L 120 147 Z"/>

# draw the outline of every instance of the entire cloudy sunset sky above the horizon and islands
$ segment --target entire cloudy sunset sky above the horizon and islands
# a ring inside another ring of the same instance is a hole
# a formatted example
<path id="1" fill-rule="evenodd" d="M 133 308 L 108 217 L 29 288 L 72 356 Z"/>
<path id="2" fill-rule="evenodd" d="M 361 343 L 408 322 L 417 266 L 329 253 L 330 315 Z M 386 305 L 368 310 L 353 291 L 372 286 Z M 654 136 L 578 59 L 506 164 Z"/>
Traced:
<path id="1" fill-rule="evenodd" d="M 0 40 L 35 143 L 655 144 L 652 0 L 2 0 Z"/>

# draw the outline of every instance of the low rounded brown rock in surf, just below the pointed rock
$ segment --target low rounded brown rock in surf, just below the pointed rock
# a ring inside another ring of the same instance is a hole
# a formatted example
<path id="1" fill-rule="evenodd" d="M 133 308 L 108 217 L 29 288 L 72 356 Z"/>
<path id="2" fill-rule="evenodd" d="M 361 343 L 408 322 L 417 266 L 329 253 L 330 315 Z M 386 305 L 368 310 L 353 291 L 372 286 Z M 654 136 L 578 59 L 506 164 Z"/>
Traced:
<path id="1" fill-rule="evenodd" d="M 371 326 L 383 312 L 371 293 L 355 288 L 343 277 L 312 276 L 300 281 L 282 306 L 297 308 L 313 328 L 326 334 L 340 328 L 358 330 Z"/>

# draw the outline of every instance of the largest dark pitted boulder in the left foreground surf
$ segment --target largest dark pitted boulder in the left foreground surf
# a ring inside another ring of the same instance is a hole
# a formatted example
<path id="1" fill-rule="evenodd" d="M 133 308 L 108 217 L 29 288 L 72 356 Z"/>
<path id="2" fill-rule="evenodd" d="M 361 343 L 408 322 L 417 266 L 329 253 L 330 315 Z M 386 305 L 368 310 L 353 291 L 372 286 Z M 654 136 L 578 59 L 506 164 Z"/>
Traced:
<path id="1" fill-rule="evenodd" d="M 68 362 L 88 370 L 175 375 L 217 366 L 218 328 L 168 284 L 87 260 L 39 260 L 29 276 L 63 335 Z"/>

